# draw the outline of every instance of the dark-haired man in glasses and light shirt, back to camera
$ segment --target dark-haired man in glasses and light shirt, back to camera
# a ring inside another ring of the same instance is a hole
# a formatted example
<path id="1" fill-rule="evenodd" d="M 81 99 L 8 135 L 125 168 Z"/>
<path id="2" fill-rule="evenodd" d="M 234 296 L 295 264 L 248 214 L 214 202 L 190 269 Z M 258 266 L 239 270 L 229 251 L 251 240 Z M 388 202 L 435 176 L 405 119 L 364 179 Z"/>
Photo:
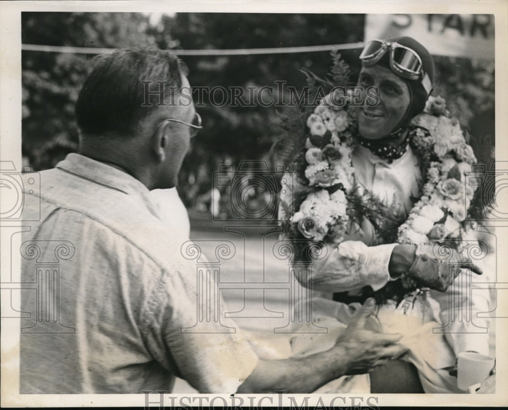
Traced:
<path id="1" fill-rule="evenodd" d="M 143 104 L 142 81 L 165 82 L 168 104 Z M 332 349 L 303 358 L 262 360 L 240 335 L 182 331 L 196 323 L 195 265 L 149 191 L 176 185 L 201 128 L 184 90 L 185 65 L 167 52 L 96 58 L 76 105 L 79 154 L 40 173 L 40 191 L 25 193 L 22 281 L 37 283 L 35 260 L 60 256 L 59 293 L 48 296 L 59 305 L 59 327 L 22 319 L 20 393 L 168 391 L 175 376 L 201 393 L 305 393 L 404 353 L 399 335 L 364 329 L 373 303 Z M 39 312 L 35 289 L 21 298 L 23 312 Z"/>

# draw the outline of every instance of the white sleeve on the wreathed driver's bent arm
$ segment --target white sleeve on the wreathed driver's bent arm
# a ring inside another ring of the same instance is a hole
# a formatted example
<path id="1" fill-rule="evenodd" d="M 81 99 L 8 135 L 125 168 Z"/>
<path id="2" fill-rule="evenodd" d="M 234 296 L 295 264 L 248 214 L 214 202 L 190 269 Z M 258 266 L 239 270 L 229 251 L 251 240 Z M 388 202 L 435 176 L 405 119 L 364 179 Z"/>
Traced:
<path id="1" fill-rule="evenodd" d="M 397 244 L 367 246 L 361 241 L 344 241 L 330 246 L 325 258 L 312 261 L 312 286 L 316 290 L 345 292 L 363 286 L 374 291 L 390 280 L 388 263 Z"/>

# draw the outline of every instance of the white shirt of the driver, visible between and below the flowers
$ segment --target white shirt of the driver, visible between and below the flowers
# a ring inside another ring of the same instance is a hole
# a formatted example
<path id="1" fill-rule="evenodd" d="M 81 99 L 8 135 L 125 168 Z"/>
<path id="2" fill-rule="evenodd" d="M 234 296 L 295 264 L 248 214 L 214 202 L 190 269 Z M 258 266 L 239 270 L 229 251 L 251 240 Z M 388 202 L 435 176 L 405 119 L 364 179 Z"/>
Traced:
<path id="1" fill-rule="evenodd" d="M 361 145 L 356 147 L 351 159 L 356 181 L 361 186 L 401 214 L 411 210 L 410 198 L 418 197 L 421 173 L 418 158 L 409 146 L 391 163 Z M 375 243 L 374 236 L 372 225 L 365 220 L 327 258 L 314 261 L 315 288 L 329 291 L 332 286 L 333 291 L 344 292 L 369 285 L 376 291 L 392 280 L 388 263 L 397 244 L 368 246 Z"/>

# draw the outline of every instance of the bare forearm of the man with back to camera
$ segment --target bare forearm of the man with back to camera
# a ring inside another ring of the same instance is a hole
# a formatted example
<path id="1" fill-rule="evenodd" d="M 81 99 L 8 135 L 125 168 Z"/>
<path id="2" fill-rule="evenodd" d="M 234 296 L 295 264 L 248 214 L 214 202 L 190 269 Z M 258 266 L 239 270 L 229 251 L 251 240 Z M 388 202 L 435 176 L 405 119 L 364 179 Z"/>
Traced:
<path id="1" fill-rule="evenodd" d="M 349 366 L 339 347 L 301 358 L 259 360 L 237 393 L 310 393 L 346 374 Z"/>

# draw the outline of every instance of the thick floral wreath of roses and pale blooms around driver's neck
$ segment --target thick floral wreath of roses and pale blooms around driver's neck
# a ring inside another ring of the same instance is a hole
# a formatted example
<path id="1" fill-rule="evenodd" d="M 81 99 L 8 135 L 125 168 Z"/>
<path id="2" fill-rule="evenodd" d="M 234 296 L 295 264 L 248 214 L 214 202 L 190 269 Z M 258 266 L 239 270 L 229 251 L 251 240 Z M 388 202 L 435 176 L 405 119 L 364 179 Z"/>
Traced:
<path id="1" fill-rule="evenodd" d="M 347 104 L 338 107 L 322 99 L 306 125 L 308 137 L 293 162 L 301 182 L 294 193 L 293 208 L 292 198 L 281 195 L 287 217 L 285 232 L 290 239 L 299 240 L 295 246 L 302 240 L 337 246 L 350 222 L 360 223 L 366 218 L 382 243 L 425 245 L 452 239 L 455 248 L 462 251 L 459 240 L 472 225 L 466 215 L 474 208 L 471 201 L 475 200 L 476 188 L 466 186 L 464 176 L 471 172 L 476 158 L 442 97 L 429 97 L 423 113 L 409 127 L 408 143 L 421 159 L 423 187 L 421 198 L 402 217 L 355 183 L 352 153 L 358 144 L 358 124 Z M 374 296 L 378 303 L 388 299 L 400 302 L 415 291 L 426 290 L 409 277 L 400 279 L 366 296 Z"/>

